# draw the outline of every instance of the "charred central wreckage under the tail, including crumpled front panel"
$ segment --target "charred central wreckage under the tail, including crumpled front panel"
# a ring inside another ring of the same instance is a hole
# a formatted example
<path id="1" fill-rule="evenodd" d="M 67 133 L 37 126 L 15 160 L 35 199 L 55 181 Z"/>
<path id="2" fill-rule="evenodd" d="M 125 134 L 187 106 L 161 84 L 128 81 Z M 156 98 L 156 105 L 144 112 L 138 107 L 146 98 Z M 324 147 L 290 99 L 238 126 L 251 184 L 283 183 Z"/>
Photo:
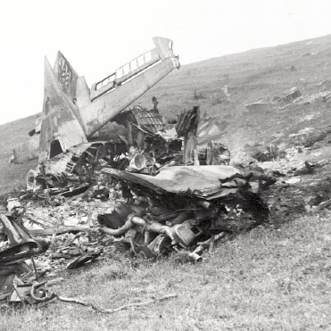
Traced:
<path id="1" fill-rule="evenodd" d="M 113 211 L 98 216 L 100 230 L 146 258 L 194 246 L 187 254 L 198 261 L 215 238 L 268 218 L 251 190 L 252 173 L 229 166 L 223 145 L 199 146 L 198 107 L 182 112 L 169 129 L 155 107 L 137 106 L 114 120 L 125 125 L 127 137 L 55 156 L 37 175 L 35 192 L 71 196 L 92 189 L 107 199 L 116 190 Z"/>

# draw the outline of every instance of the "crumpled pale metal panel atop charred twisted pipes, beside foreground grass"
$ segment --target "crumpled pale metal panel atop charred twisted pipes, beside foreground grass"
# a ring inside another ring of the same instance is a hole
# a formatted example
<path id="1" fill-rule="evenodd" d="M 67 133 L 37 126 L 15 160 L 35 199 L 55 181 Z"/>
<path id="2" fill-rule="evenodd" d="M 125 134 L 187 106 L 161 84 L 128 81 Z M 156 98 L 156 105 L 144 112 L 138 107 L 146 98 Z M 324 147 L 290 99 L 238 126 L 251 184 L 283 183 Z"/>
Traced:
<path id="1" fill-rule="evenodd" d="M 101 230 L 127 237 L 132 250 L 146 258 L 247 230 L 269 216 L 259 195 L 250 191 L 252 173 L 230 166 L 174 166 L 156 176 L 102 171 L 125 183 L 132 198 L 117 203 L 111 214 L 99 215 Z M 197 252 L 192 252 L 195 261 L 201 260 Z"/>

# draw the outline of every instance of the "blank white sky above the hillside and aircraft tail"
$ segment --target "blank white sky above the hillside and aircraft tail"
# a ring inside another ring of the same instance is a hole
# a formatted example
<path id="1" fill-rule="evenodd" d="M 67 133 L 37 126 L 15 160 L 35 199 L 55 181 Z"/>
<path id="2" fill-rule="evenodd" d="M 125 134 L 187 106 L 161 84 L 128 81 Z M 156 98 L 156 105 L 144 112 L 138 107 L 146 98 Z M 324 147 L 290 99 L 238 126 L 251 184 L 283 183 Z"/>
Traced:
<path id="1" fill-rule="evenodd" d="M 331 34 L 330 0 L 11 0 L 0 4 L 0 124 L 41 112 L 44 57 L 87 85 L 170 37 L 181 64 Z"/>

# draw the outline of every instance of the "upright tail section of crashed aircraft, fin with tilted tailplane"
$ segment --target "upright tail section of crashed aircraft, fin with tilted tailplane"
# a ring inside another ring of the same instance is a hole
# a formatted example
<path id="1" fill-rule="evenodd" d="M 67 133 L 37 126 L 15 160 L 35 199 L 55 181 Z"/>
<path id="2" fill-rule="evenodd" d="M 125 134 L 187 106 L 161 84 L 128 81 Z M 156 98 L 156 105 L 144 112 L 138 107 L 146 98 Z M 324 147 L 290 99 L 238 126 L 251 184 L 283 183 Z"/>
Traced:
<path id="1" fill-rule="evenodd" d="M 137 56 L 91 89 L 61 52 L 53 69 L 46 59 L 39 162 L 87 143 L 95 132 L 179 67 L 170 39 L 154 37 L 153 42 L 151 51 Z"/>

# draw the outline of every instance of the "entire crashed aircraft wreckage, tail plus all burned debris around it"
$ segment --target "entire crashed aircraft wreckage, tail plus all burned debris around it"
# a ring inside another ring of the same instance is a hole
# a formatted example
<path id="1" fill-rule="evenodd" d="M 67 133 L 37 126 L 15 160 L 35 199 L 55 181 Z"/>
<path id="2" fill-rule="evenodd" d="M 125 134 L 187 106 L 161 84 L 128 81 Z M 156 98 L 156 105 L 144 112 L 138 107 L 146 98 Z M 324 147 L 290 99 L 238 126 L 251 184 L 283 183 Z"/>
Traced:
<path id="1" fill-rule="evenodd" d="M 1 215 L 0 299 L 94 308 L 50 292 L 39 277 L 82 267 L 116 244 L 145 259 L 174 253 L 202 261 L 216 243 L 269 219 L 261 192 L 277 178 L 252 158 L 229 165 L 221 143 L 228 122 L 202 117 L 194 106 L 170 124 L 155 97 L 150 110 L 128 108 L 179 67 L 171 41 L 153 41 L 153 50 L 90 89 L 61 53 L 54 68 L 46 61 L 43 114 L 31 131 L 39 140 L 37 169 Z M 29 158 L 24 147 L 16 150 L 15 161 Z"/>

